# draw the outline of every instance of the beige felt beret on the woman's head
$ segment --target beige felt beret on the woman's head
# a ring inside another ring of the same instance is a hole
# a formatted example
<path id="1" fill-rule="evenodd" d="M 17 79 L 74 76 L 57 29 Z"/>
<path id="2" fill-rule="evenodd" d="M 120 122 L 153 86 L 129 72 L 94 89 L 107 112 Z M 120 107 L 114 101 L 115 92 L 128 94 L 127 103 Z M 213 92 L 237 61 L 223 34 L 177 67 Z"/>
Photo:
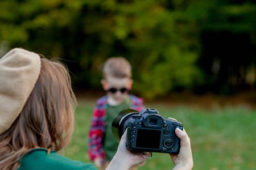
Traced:
<path id="1" fill-rule="evenodd" d="M 0 134 L 19 116 L 40 69 L 40 56 L 24 49 L 12 49 L 0 59 Z"/>

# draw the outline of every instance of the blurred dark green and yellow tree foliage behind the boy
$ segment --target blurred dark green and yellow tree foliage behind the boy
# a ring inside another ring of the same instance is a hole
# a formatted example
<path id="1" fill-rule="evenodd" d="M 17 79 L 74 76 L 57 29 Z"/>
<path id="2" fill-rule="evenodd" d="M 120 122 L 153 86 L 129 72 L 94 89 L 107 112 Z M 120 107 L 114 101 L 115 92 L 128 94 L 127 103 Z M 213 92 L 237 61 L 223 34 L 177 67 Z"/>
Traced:
<path id="1" fill-rule="evenodd" d="M 10 48 L 65 59 L 78 88 L 100 88 L 105 60 L 123 56 L 133 66 L 134 92 L 147 98 L 218 82 L 212 67 L 225 56 L 204 53 L 209 33 L 242 33 L 250 49 L 256 44 L 255 1 L 2 0 L 0 10 L 0 41 Z M 255 69 L 255 52 L 245 58 L 249 64 L 237 69 Z"/>

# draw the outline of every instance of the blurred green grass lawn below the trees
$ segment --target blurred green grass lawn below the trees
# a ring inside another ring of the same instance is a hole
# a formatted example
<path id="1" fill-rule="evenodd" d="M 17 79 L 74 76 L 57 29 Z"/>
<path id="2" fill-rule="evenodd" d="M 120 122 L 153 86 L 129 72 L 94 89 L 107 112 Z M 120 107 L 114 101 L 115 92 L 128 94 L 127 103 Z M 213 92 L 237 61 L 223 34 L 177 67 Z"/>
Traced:
<path id="1" fill-rule="evenodd" d="M 89 163 L 87 134 L 92 104 L 79 105 L 72 142 L 65 156 Z M 256 110 L 245 106 L 205 109 L 150 105 L 163 117 L 179 120 L 191 138 L 193 169 L 256 169 Z M 168 154 L 153 153 L 142 169 L 172 169 Z"/>

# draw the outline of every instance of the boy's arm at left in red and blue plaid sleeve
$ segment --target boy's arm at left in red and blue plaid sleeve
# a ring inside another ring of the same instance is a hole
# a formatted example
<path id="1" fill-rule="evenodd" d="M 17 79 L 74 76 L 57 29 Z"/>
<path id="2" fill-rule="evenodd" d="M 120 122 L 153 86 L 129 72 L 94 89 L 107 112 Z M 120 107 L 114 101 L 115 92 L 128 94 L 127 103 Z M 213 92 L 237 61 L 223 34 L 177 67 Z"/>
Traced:
<path id="1" fill-rule="evenodd" d="M 100 111 L 95 107 L 93 109 L 92 122 L 89 130 L 89 151 L 88 156 L 90 160 L 100 158 L 105 159 L 105 152 L 102 146 L 102 139 L 104 137 L 105 117 L 104 111 Z"/>

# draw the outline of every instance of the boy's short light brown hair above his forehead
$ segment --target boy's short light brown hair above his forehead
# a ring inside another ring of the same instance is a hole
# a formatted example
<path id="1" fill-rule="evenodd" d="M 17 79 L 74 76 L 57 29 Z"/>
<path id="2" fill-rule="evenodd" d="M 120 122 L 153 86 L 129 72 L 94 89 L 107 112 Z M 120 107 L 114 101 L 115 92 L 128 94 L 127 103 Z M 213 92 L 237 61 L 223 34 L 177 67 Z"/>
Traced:
<path id="1" fill-rule="evenodd" d="M 103 67 L 103 78 L 131 78 L 131 65 L 123 57 L 111 57 L 107 59 Z"/>

